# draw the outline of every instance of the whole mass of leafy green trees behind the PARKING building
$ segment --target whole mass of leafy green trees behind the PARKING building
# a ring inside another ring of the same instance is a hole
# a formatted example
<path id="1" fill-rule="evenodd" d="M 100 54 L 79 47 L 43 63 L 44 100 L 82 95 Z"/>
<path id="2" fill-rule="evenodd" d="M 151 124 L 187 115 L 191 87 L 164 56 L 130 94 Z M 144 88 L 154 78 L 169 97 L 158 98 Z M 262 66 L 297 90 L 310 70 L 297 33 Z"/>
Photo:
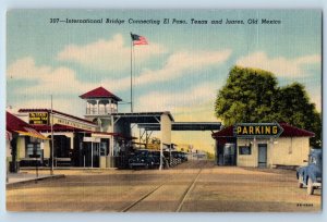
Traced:
<path id="1" fill-rule="evenodd" d="M 311 146 L 322 147 L 322 116 L 303 85 L 278 87 L 270 72 L 233 66 L 218 91 L 216 116 L 226 125 L 238 122 L 287 122 L 314 132 Z"/>

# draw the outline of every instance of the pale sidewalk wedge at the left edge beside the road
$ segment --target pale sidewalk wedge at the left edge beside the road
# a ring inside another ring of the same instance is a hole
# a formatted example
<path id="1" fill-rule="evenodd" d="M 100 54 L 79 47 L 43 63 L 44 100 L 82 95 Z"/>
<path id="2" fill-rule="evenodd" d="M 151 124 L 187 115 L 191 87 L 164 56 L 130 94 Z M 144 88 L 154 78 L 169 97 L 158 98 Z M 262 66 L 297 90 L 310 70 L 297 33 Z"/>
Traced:
<path id="1" fill-rule="evenodd" d="M 37 182 L 43 180 L 53 180 L 64 177 L 63 174 L 50 175 L 50 174 L 38 174 L 35 173 L 9 173 L 7 181 L 7 188 L 12 187 L 13 185 Z"/>

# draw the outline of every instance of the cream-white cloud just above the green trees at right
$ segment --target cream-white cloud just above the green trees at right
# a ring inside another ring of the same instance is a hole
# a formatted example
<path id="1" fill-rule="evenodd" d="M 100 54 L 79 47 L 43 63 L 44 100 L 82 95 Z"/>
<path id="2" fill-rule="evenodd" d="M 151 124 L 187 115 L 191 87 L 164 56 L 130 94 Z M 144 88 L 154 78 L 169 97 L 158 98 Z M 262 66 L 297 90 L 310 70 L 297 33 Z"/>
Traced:
<path id="1" fill-rule="evenodd" d="M 270 71 L 277 76 L 291 77 L 305 75 L 303 67 L 310 64 L 319 64 L 322 58 L 318 54 L 286 59 L 283 57 L 268 58 L 265 52 L 254 52 L 238 60 L 237 65 L 245 67 L 258 67 Z"/>

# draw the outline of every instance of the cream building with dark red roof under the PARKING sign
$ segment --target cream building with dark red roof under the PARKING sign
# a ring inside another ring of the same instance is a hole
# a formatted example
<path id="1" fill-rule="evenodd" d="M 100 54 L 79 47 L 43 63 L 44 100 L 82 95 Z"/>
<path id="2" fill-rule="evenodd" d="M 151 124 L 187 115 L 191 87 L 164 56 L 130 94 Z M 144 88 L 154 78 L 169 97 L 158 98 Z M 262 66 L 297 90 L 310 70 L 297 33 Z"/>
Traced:
<path id="1" fill-rule="evenodd" d="M 279 125 L 282 133 L 278 138 L 238 138 L 234 126 L 214 133 L 217 164 L 254 168 L 305 164 L 303 160 L 310 153 L 310 138 L 315 134 L 287 123 Z"/>

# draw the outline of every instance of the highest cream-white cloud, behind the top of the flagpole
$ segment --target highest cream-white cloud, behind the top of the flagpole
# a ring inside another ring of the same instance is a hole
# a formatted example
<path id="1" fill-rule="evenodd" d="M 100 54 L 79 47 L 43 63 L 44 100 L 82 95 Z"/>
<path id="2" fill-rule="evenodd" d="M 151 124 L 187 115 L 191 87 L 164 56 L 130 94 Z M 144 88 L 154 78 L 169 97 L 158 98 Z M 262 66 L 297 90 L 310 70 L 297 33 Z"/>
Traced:
<path id="1" fill-rule="evenodd" d="M 135 47 L 134 51 L 137 62 L 142 63 L 154 55 L 166 53 L 167 50 L 160 45 L 149 42 Z M 109 71 L 114 75 L 114 72 L 130 69 L 130 44 L 124 42 L 121 34 L 117 34 L 112 39 L 100 39 L 85 46 L 69 45 L 58 53 L 57 59 Z"/>

